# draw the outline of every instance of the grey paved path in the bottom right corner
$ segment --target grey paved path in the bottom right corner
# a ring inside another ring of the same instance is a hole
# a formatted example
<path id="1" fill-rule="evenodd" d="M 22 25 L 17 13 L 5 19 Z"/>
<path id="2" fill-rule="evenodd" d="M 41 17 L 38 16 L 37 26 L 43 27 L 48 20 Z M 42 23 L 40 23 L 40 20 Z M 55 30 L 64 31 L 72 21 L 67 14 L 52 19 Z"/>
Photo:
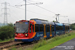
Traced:
<path id="1" fill-rule="evenodd" d="M 51 50 L 75 50 L 75 38 L 69 40 Z"/>

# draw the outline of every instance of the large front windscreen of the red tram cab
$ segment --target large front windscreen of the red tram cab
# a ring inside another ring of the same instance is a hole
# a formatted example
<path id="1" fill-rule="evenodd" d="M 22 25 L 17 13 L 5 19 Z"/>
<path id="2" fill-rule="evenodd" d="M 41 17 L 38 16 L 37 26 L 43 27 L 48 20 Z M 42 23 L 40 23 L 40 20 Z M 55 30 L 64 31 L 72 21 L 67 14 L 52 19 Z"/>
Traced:
<path id="1" fill-rule="evenodd" d="M 15 24 L 17 33 L 28 33 L 29 22 L 18 22 Z"/>

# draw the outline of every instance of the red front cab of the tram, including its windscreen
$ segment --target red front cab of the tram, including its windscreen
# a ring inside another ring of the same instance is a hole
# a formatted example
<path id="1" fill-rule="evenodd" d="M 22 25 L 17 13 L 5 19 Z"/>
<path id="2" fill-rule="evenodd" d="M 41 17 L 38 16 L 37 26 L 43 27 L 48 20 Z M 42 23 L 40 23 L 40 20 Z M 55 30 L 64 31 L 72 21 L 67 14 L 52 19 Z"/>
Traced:
<path id="1" fill-rule="evenodd" d="M 34 24 L 30 21 L 19 21 L 14 26 L 17 38 L 30 38 L 33 35 Z"/>

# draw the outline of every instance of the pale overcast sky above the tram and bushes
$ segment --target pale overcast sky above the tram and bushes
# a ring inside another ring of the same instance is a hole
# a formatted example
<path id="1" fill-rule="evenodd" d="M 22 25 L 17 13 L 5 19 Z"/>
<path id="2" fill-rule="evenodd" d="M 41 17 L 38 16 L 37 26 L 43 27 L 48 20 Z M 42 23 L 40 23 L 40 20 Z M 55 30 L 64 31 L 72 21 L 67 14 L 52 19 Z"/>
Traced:
<path id="1" fill-rule="evenodd" d="M 2 3 L 5 2 L 9 3 L 7 5 L 7 8 L 9 8 L 7 9 L 8 23 L 15 23 L 19 20 L 25 20 L 24 0 L 0 0 L 0 23 L 4 22 L 4 4 Z M 40 2 L 43 4 L 39 4 Z M 34 3 L 35 5 L 32 5 L 31 3 Z M 60 23 L 75 23 L 75 0 L 27 0 L 26 12 L 27 20 L 30 20 L 31 18 L 39 18 L 51 22 L 53 20 L 55 21 L 55 14 L 60 14 Z"/>

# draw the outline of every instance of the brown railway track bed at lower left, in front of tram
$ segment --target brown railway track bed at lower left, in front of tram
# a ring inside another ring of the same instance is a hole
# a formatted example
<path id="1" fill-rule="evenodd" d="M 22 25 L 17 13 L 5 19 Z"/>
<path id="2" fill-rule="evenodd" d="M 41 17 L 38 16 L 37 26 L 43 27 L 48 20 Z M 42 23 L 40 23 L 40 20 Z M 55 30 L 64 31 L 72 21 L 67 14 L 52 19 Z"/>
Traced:
<path id="1" fill-rule="evenodd" d="M 9 41 L 9 42 L 3 42 L 0 43 L 0 50 L 10 50 L 11 48 L 15 47 L 17 49 L 21 48 L 27 48 L 33 46 L 35 43 L 23 43 L 23 42 L 15 42 L 15 41 Z"/>

